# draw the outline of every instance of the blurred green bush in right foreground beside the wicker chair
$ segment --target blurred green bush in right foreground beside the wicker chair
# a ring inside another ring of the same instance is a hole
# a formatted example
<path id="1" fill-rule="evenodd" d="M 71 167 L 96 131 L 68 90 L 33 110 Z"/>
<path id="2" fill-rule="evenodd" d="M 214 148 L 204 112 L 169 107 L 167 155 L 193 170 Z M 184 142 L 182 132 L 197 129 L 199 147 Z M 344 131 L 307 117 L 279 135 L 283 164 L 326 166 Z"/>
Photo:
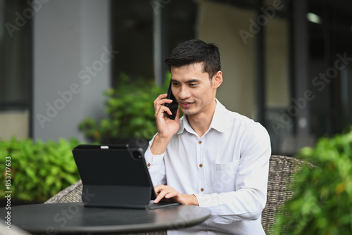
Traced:
<path id="1" fill-rule="evenodd" d="M 276 234 L 352 234 L 352 130 L 298 153 L 313 163 L 295 175 L 294 196 L 275 222 Z"/>

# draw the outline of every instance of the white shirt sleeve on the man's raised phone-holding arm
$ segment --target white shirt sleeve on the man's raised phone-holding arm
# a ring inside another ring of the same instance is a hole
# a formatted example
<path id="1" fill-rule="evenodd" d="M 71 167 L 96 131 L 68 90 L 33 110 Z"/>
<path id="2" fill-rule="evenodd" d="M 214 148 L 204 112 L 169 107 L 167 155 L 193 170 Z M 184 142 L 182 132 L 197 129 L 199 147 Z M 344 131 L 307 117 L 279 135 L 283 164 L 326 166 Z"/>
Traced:
<path id="1" fill-rule="evenodd" d="M 148 167 L 151 176 L 151 182 L 153 182 L 153 186 L 156 186 L 166 184 L 166 173 L 164 164 L 165 153 L 161 155 L 153 155 L 153 153 L 151 153 L 151 145 L 153 144 L 154 138 L 155 136 L 149 141 L 149 146 L 146 149 L 144 158 L 146 160 L 146 167 Z"/>

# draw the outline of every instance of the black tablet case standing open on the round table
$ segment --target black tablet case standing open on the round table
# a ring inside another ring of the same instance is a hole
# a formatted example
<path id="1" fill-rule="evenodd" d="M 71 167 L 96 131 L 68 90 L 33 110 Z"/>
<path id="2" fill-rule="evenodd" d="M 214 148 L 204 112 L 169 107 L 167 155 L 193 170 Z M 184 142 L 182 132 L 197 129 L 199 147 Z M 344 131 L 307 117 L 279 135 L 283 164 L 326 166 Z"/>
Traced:
<path id="1" fill-rule="evenodd" d="M 85 206 L 146 209 L 156 198 L 142 148 L 79 145 L 73 156 Z"/>

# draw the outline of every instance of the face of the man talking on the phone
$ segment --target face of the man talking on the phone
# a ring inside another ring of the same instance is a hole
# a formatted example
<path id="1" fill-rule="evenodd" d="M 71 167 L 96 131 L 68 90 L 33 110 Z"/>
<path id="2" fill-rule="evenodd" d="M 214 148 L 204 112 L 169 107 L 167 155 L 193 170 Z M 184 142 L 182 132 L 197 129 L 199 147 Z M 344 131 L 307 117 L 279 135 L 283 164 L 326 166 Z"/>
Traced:
<path id="1" fill-rule="evenodd" d="M 202 70 L 202 63 L 171 67 L 172 94 L 186 115 L 212 115 L 215 110 L 216 88 L 222 77 L 217 84 L 216 76 L 210 80 L 208 73 Z"/>

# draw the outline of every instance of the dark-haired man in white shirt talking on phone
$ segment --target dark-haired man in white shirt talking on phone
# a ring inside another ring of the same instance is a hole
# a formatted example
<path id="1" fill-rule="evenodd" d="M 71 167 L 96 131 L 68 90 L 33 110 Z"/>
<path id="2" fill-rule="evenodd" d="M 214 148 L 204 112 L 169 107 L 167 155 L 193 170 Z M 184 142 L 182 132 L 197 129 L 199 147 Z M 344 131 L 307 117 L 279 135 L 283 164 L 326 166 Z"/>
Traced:
<path id="1" fill-rule="evenodd" d="M 212 217 L 168 234 L 265 234 L 261 212 L 268 185 L 270 138 L 259 123 L 227 110 L 215 99 L 222 84 L 220 53 L 215 44 L 192 39 L 169 58 L 175 120 L 165 103 L 154 101 L 158 133 L 146 150 L 155 203 L 177 201 L 208 208 Z"/>

